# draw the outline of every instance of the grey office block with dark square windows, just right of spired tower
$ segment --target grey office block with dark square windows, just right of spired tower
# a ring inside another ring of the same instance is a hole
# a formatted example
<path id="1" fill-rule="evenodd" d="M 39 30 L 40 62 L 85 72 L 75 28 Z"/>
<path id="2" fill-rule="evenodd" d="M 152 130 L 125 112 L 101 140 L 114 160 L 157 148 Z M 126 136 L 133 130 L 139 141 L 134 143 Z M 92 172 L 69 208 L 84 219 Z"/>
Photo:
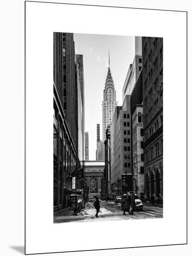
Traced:
<path id="1" fill-rule="evenodd" d="M 130 95 L 126 95 L 122 107 L 116 107 L 110 130 L 112 195 L 125 194 L 133 189 Z"/>

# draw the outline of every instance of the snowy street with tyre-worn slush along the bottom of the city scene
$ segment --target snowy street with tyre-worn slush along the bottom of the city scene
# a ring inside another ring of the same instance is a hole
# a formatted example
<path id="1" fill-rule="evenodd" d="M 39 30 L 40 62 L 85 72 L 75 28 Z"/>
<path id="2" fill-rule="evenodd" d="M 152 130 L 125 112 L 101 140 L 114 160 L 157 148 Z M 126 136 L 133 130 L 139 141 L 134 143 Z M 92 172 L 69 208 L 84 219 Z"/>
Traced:
<path id="1" fill-rule="evenodd" d="M 113 221 L 113 220 L 135 220 L 162 218 L 163 209 L 161 205 L 152 206 L 151 203 L 144 203 L 143 211 L 134 211 L 134 215 L 123 215 L 121 204 L 114 202 L 100 202 L 99 218 L 95 217 L 96 209 L 92 202 L 86 203 L 86 208 L 78 215 L 73 215 L 73 210 L 63 209 L 54 213 L 54 223 L 62 222 L 90 222 L 90 221 Z"/>

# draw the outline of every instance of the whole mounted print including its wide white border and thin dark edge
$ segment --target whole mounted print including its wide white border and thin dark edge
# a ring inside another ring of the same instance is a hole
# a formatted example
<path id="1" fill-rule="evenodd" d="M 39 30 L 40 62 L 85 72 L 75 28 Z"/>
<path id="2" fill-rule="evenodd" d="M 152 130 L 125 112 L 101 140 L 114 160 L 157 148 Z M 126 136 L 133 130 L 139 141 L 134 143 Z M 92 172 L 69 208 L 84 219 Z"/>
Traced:
<path id="1" fill-rule="evenodd" d="M 186 12 L 149 7 L 25 3 L 26 254 L 187 243 Z"/>

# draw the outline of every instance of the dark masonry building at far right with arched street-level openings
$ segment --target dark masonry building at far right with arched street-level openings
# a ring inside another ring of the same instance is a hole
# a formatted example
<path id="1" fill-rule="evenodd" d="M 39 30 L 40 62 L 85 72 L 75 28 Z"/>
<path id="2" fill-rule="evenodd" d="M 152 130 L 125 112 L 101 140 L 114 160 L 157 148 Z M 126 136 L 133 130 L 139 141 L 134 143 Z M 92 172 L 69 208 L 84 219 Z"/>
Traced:
<path id="1" fill-rule="evenodd" d="M 142 37 L 144 177 L 147 200 L 163 201 L 163 38 Z"/>

